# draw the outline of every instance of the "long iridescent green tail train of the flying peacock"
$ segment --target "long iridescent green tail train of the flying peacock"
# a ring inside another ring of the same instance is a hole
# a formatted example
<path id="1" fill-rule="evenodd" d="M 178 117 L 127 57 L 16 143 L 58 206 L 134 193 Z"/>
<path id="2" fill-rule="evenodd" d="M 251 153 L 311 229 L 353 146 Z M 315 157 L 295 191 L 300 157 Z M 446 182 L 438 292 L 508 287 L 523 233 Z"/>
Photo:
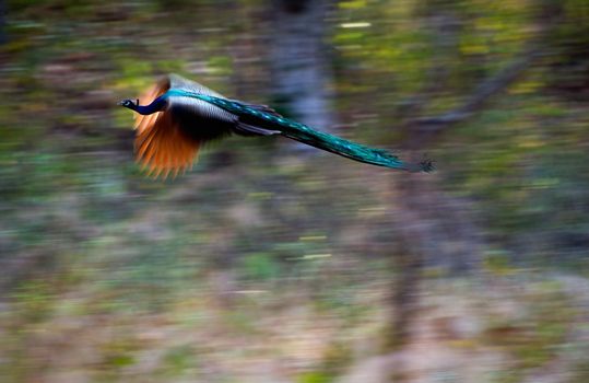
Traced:
<path id="1" fill-rule="evenodd" d="M 306 125 L 284 118 L 275 113 L 264 112 L 262 108 L 252 108 L 247 104 L 211 95 L 195 94 L 193 96 L 236 114 L 247 124 L 259 126 L 264 129 L 280 130 L 284 137 L 358 162 L 409 172 L 431 172 L 433 170 L 432 161 L 429 160 L 425 160 L 419 164 L 409 164 L 384 149 L 369 148 L 333 135 L 318 131 Z"/>

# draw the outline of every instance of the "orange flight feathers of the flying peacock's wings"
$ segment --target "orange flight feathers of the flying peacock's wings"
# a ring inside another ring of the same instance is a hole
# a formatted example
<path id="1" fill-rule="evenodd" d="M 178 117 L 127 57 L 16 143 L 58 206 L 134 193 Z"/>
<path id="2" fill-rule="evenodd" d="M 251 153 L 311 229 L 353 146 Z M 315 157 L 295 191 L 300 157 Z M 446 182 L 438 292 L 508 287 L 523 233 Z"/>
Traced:
<path id="1" fill-rule="evenodd" d="M 164 79 L 141 96 L 140 104 L 151 104 L 169 89 L 169 80 Z M 151 115 L 136 115 L 136 159 L 149 174 L 155 177 L 186 171 L 195 161 L 200 142 L 184 134 L 167 112 Z"/>

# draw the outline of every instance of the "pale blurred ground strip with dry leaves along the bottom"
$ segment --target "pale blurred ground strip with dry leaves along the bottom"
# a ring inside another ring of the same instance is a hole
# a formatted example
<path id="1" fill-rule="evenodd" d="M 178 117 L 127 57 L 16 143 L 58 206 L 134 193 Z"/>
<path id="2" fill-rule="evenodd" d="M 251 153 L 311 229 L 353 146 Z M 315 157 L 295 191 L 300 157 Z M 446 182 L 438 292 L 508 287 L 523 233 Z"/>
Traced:
<path id="1" fill-rule="evenodd" d="M 38 298 L 35 307 L 50 305 L 51 312 L 34 322 L 30 316 L 38 312 L 30 299 L 3 315 L 10 340 L 2 346 L 3 376 L 384 382 L 393 373 L 413 382 L 584 382 L 588 281 L 529 271 L 494 279 L 486 288 L 479 280 L 428 282 L 413 340 L 387 355 L 378 345 L 386 280 L 356 278 L 353 293 L 341 298 L 333 297 L 343 290 L 333 282 L 319 294 L 299 280 L 220 291 L 210 276 L 150 313 L 132 305 L 101 310 L 113 299 L 79 290 L 50 302 Z"/>

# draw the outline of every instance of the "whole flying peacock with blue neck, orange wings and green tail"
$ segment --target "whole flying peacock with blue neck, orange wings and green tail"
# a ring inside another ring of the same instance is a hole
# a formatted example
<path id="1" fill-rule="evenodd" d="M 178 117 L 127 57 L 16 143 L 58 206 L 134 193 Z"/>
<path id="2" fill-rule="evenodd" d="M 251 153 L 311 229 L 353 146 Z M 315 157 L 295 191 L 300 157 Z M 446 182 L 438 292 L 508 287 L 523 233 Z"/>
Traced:
<path id="1" fill-rule="evenodd" d="M 349 159 L 409 172 L 429 172 L 432 162 L 408 164 L 382 149 L 368 148 L 283 117 L 266 105 L 229 100 L 177 74 L 157 82 L 137 102 L 119 105 L 137 112 L 136 155 L 154 176 L 189 167 L 203 143 L 236 134 L 281 135 Z"/>

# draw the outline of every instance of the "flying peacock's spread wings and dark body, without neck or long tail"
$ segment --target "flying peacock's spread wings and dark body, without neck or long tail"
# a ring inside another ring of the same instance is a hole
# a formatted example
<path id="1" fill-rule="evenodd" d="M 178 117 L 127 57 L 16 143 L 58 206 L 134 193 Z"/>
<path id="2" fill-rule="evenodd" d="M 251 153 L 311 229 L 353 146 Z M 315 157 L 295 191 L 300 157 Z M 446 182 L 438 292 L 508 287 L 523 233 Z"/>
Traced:
<path id="1" fill-rule="evenodd" d="M 169 91 L 169 92 L 168 92 Z M 220 107 L 209 100 L 224 100 L 217 92 L 178 74 L 169 74 L 158 81 L 140 98 L 140 105 L 149 105 L 168 92 L 166 108 L 151 115 L 136 115 L 136 158 L 155 176 L 176 175 L 190 166 L 199 149 L 209 141 L 232 132 L 243 136 L 269 136 L 279 130 L 260 126 L 257 120 L 239 118 L 232 111 Z M 232 102 L 237 103 L 237 102 Z M 243 104 L 260 114 L 280 117 L 266 105 Z M 254 123 L 254 124 L 252 124 Z"/>

